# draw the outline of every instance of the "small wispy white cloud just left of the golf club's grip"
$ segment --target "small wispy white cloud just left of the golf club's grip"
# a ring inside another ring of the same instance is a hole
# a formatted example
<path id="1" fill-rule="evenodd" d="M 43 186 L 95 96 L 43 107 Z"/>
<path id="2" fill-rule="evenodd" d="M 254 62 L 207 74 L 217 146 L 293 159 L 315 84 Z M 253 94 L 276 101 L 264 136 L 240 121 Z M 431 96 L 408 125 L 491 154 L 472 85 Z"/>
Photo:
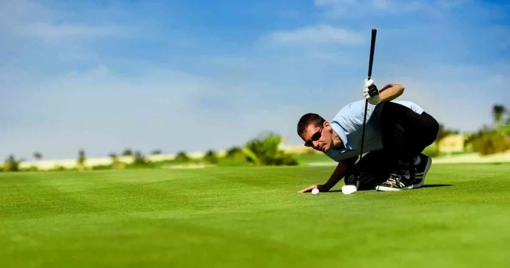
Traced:
<path id="1" fill-rule="evenodd" d="M 264 39 L 278 44 L 359 44 L 365 41 L 359 33 L 329 25 L 276 31 Z"/>

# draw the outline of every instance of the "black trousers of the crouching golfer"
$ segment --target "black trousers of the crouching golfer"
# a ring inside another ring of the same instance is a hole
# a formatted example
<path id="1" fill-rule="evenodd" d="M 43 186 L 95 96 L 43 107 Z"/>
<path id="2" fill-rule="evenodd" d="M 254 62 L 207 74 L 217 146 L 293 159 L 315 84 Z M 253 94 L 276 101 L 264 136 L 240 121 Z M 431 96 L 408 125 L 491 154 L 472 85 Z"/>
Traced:
<path id="1" fill-rule="evenodd" d="M 418 114 L 398 103 L 382 102 L 372 116 L 376 116 L 380 124 L 383 149 L 362 158 L 359 175 L 359 163 L 356 163 L 345 176 L 345 184 L 352 184 L 357 177 L 360 190 L 373 189 L 386 181 L 392 172 L 410 169 L 414 158 L 436 140 L 439 131 L 435 118 L 426 112 Z"/>

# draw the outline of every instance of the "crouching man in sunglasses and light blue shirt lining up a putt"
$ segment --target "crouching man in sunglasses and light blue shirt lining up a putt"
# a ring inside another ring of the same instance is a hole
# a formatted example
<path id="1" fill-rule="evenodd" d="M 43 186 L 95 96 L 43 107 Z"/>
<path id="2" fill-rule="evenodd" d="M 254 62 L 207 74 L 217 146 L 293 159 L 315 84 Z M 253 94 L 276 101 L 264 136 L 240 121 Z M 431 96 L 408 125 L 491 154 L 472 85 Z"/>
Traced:
<path id="1" fill-rule="evenodd" d="M 421 152 L 436 140 L 439 124 L 413 102 L 395 101 L 403 93 L 398 84 L 377 90 L 373 80 L 365 80 L 364 96 L 368 100 L 367 123 L 361 171 L 356 159 L 360 154 L 365 100 L 343 107 L 331 121 L 320 115 L 303 115 L 297 126 L 305 146 L 323 152 L 339 162 L 325 184 L 311 185 L 329 191 L 345 177 L 346 185 L 358 190 L 396 191 L 420 188 L 431 164 Z"/>

